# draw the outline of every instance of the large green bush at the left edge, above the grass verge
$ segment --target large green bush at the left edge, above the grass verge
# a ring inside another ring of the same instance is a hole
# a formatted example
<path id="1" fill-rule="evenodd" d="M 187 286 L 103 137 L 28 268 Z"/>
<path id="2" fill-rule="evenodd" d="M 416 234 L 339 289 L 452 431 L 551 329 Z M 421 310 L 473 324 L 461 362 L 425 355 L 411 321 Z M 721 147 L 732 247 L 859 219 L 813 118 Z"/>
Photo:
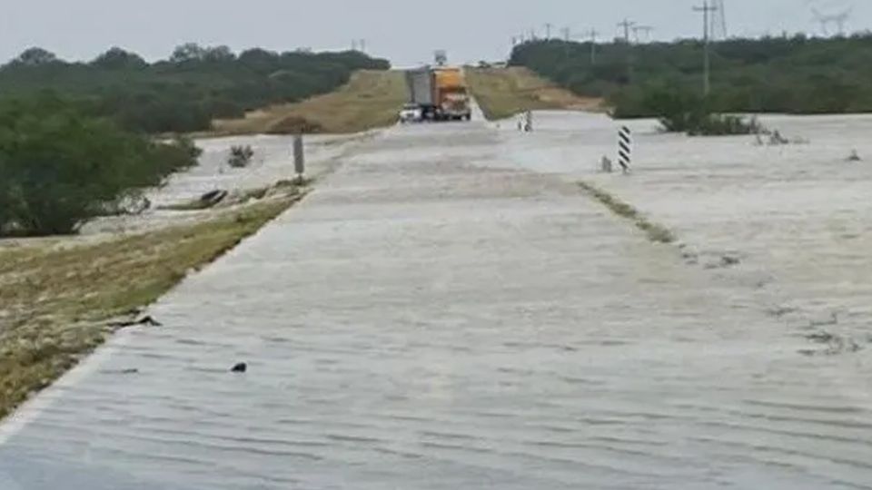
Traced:
<path id="1" fill-rule="evenodd" d="M 0 234 L 71 233 L 137 188 L 196 163 L 186 140 L 152 142 L 75 104 L 0 103 Z"/>

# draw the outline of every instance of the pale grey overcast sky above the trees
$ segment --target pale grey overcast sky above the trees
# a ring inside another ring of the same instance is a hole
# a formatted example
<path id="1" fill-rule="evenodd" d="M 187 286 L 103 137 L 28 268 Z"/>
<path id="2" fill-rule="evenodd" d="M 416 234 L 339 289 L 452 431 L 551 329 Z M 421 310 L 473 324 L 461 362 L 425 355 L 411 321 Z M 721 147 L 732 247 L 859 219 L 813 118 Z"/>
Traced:
<path id="1" fill-rule="evenodd" d="M 623 17 L 656 30 L 660 39 L 702 31 L 691 11 L 702 0 L 2 0 L 0 58 L 38 45 L 66 59 L 90 59 L 119 45 L 148 59 L 193 41 L 235 50 L 344 49 L 365 38 L 367 51 L 408 65 L 445 49 L 456 63 L 505 57 L 510 40 L 535 28 L 569 26 L 618 34 Z M 872 25 L 869 0 L 724 0 L 733 35 L 819 30 L 812 6 L 824 14 L 853 5 L 851 30 Z M 303 6 L 304 5 L 304 6 Z"/>

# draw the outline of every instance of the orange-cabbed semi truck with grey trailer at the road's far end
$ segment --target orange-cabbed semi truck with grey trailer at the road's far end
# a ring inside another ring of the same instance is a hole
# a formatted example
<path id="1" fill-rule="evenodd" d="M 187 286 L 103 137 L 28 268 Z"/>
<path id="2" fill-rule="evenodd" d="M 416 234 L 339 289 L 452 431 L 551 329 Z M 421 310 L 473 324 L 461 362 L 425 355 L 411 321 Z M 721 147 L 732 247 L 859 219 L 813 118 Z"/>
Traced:
<path id="1" fill-rule="evenodd" d="M 431 121 L 469 121 L 470 93 L 460 68 L 424 67 L 406 72 L 410 103 L 421 108 L 421 118 Z"/>

